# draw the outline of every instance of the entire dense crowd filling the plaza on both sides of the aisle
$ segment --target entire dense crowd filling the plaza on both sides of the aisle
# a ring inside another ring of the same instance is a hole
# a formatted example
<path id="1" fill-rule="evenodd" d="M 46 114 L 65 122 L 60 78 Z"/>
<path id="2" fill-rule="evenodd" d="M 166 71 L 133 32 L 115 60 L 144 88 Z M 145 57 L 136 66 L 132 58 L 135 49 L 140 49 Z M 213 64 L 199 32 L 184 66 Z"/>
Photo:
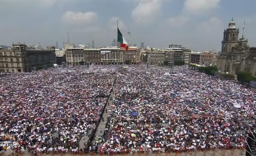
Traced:
<path id="1" fill-rule="evenodd" d="M 254 125 L 243 119 L 256 111 L 256 92 L 247 86 L 185 66 L 116 70 L 90 65 L 2 74 L 0 141 L 11 141 L 16 151 L 76 154 L 80 140 L 109 112 L 108 138 L 97 141 L 100 153 L 246 146 L 242 131 Z M 115 98 L 107 104 L 116 76 Z"/>

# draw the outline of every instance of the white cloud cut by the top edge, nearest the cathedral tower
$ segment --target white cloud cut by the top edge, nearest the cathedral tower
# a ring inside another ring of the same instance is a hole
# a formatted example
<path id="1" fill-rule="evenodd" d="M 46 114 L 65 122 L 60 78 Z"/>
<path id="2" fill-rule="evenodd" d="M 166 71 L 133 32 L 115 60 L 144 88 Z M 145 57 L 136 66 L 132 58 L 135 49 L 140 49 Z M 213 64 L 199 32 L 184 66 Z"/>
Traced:
<path id="1" fill-rule="evenodd" d="M 184 10 L 198 14 L 216 8 L 219 2 L 220 0 L 186 0 Z"/>

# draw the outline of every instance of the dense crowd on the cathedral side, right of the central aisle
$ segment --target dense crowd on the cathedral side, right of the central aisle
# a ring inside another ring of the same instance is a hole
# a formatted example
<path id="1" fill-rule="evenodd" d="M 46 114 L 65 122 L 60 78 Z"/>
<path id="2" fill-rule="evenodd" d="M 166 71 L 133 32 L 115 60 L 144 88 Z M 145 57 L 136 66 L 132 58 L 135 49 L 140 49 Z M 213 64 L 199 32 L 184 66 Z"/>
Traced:
<path id="1" fill-rule="evenodd" d="M 245 147 L 256 92 L 235 80 L 185 66 L 129 65 L 119 75 L 109 108 L 108 140 L 101 153 L 232 149 Z"/>

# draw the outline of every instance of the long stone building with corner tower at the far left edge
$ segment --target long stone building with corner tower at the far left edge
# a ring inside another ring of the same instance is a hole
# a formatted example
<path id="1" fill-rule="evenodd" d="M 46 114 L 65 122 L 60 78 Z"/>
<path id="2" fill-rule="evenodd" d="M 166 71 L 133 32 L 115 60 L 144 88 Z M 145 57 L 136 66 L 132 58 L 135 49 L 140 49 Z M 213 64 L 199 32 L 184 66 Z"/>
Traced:
<path id="1" fill-rule="evenodd" d="M 10 50 L 0 49 L 0 69 L 5 72 L 30 72 L 53 66 L 56 63 L 55 47 L 31 50 L 27 45 L 13 43 Z"/>

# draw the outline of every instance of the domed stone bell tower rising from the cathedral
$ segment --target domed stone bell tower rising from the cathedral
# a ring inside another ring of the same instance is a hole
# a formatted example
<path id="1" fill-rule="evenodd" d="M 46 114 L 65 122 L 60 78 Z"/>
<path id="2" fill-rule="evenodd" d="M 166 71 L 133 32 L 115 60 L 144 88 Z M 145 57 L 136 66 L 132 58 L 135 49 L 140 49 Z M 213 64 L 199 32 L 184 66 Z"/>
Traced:
<path id="1" fill-rule="evenodd" d="M 239 29 L 236 29 L 235 22 L 232 21 L 228 24 L 227 30 L 224 30 L 221 52 L 232 52 L 233 48 L 238 46 Z"/>

